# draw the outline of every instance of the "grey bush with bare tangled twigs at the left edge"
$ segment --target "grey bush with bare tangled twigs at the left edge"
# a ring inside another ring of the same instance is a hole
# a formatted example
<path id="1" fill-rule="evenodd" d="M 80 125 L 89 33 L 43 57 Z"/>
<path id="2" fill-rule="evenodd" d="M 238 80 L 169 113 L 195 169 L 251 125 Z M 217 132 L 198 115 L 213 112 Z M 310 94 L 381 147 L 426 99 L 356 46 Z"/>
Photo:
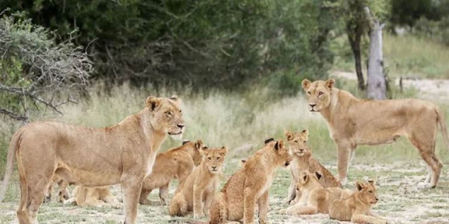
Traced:
<path id="1" fill-rule="evenodd" d="M 28 122 L 33 111 L 76 102 L 92 63 L 72 39 L 56 43 L 22 14 L 0 14 L 0 114 Z"/>

